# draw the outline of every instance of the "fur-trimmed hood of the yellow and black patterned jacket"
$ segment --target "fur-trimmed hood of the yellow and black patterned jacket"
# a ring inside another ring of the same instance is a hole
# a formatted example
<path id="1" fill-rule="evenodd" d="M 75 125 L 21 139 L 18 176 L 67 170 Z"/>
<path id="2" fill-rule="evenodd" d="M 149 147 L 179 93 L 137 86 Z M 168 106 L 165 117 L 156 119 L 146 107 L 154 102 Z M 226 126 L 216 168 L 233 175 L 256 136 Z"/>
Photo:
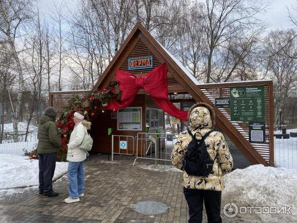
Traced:
<path id="1" fill-rule="evenodd" d="M 214 129 L 215 112 L 207 103 L 198 102 L 194 104 L 189 110 L 188 118 L 192 128 Z"/>

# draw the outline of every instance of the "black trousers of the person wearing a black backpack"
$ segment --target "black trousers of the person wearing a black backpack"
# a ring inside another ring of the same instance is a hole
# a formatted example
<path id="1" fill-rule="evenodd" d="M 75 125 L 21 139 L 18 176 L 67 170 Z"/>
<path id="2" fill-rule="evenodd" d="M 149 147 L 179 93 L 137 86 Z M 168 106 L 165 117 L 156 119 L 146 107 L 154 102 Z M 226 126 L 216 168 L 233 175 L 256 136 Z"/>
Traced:
<path id="1" fill-rule="evenodd" d="M 221 223 L 221 191 L 196 190 L 184 188 L 185 198 L 189 206 L 189 223 L 201 223 L 203 200 L 208 223 Z"/>

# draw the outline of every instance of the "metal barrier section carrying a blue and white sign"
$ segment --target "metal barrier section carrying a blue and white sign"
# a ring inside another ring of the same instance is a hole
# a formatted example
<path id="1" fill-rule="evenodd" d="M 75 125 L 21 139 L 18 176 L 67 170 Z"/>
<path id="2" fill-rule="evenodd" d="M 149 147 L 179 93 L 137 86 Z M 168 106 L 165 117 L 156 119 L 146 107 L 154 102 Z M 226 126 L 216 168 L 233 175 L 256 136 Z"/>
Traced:
<path id="1" fill-rule="evenodd" d="M 118 138 L 119 146 L 117 147 L 117 149 L 114 148 L 115 138 Z M 125 145 L 121 146 L 122 143 L 124 143 Z M 127 145 L 130 145 L 130 143 L 132 143 L 133 145 L 132 153 L 129 153 L 131 150 L 128 150 L 128 147 L 127 147 Z M 126 149 L 123 149 L 125 147 Z M 118 151 L 118 152 L 114 152 L 114 151 Z M 113 154 L 130 155 L 130 156 L 134 155 L 135 154 L 134 137 L 130 135 L 111 135 L 111 160 L 112 161 L 113 161 Z"/>

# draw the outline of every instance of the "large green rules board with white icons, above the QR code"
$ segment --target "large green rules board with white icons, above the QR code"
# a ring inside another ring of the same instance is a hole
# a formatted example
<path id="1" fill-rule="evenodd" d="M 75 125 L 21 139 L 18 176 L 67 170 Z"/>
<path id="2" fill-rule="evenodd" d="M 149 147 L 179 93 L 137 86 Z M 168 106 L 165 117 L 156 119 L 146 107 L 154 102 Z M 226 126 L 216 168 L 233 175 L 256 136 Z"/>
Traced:
<path id="1" fill-rule="evenodd" d="M 230 87 L 231 121 L 265 121 L 264 85 Z"/>

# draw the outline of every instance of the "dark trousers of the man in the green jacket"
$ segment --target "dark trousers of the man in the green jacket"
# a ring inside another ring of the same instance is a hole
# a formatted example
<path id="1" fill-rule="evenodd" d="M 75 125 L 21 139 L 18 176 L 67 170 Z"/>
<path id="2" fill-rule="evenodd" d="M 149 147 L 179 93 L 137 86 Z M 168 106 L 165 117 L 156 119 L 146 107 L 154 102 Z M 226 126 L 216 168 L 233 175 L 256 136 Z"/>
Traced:
<path id="1" fill-rule="evenodd" d="M 52 191 L 52 177 L 57 153 L 39 155 L 39 192 L 48 194 Z"/>

